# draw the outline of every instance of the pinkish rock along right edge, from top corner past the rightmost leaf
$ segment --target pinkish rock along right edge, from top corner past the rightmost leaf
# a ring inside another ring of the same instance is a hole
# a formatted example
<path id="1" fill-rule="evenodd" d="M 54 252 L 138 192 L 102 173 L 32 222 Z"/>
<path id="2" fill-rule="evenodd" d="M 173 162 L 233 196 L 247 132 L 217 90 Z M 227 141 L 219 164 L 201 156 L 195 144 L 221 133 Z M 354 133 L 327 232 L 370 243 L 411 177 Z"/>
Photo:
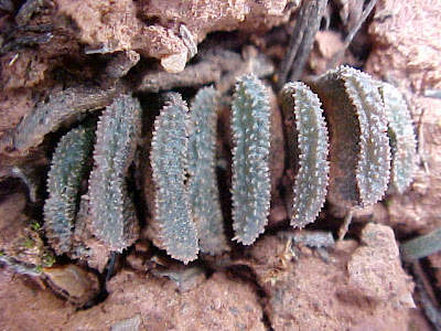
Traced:
<path id="1" fill-rule="evenodd" d="M 369 26 L 374 50 L 366 71 L 397 85 L 411 105 L 420 163 L 407 194 L 388 200 L 389 224 L 400 234 L 441 225 L 441 100 L 424 92 L 441 88 L 441 3 L 378 1 Z"/>

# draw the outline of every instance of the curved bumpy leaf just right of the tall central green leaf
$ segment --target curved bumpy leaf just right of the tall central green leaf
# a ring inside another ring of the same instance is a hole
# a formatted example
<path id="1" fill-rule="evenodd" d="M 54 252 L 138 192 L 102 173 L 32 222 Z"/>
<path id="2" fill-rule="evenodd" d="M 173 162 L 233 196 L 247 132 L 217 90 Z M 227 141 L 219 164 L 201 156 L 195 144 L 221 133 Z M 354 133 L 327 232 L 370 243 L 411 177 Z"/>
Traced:
<path id="1" fill-rule="evenodd" d="M 289 159 L 295 173 L 291 225 L 314 222 L 326 196 L 329 137 L 319 97 L 303 83 L 288 83 L 281 90 L 289 137 Z M 293 160 L 293 161 L 291 161 Z"/>

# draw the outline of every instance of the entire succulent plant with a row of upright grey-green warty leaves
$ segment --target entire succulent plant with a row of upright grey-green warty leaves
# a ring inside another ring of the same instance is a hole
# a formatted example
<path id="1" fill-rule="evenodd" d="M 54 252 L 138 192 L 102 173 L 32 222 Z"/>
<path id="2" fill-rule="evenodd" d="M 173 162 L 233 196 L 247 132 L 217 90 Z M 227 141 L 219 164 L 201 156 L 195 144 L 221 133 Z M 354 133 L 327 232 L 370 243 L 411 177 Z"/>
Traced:
<path id="1" fill-rule="evenodd" d="M 389 182 L 402 192 L 415 169 L 412 122 L 398 90 L 347 66 L 309 84 L 311 89 L 303 83 L 288 83 L 280 94 L 294 227 L 314 222 L 325 199 L 351 210 L 377 202 Z M 39 105 L 14 132 L 15 148 L 25 153 L 75 115 L 107 106 L 96 131 L 95 166 L 84 209 L 88 221 L 82 220 L 77 231 L 73 227 L 88 172 L 82 166 L 90 156 L 93 129 L 71 130 L 53 156 L 44 212 L 46 235 L 57 254 L 73 249 L 72 237 L 80 236 L 84 228 L 114 252 L 131 245 L 139 233 L 126 177 L 139 140 L 141 107 L 133 97 L 116 96 L 111 88 L 83 95 L 76 105 L 75 95 L 85 89 L 66 90 Z M 200 247 L 209 254 L 228 249 L 215 172 L 218 99 L 214 88 L 203 88 L 189 111 L 181 95 L 169 94 L 154 121 L 151 214 L 159 225 L 161 248 L 184 264 L 197 258 Z M 250 245 L 265 229 L 271 197 L 269 96 L 254 75 L 237 81 L 230 125 L 234 239 Z"/>

